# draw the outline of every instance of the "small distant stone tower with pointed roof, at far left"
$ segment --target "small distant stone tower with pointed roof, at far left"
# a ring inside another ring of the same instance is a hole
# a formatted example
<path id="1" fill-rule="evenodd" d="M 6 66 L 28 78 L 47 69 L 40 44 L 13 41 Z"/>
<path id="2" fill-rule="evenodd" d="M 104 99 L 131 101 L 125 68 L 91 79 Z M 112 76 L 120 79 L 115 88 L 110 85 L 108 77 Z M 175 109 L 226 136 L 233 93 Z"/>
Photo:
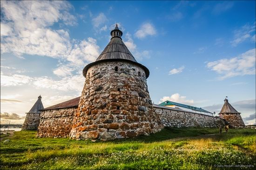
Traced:
<path id="1" fill-rule="evenodd" d="M 44 106 L 41 101 L 41 95 L 38 97 L 37 101 L 33 105 L 33 107 L 30 109 L 30 111 L 27 112 L 25 121 L 21 127 L 21 130 L 36 130 L 39 122 L 40 122 L 40 113 L 41 109 L 44 109 Z"/>

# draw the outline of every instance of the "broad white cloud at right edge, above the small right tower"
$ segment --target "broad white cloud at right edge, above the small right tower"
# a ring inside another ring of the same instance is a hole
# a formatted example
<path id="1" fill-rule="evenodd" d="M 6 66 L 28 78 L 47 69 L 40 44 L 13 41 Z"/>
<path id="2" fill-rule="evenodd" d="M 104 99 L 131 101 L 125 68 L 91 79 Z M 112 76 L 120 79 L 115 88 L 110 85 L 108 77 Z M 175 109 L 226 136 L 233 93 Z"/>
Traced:
<path id="1" fill-rule="evenodd" d="M 256 73 L 255 48 L 240 54 L 238 57 L 231 59 L 220 59 L 207 63 L 207 67 L 217 72 L 219 80 L 235 76 L 253 75 Z"/>

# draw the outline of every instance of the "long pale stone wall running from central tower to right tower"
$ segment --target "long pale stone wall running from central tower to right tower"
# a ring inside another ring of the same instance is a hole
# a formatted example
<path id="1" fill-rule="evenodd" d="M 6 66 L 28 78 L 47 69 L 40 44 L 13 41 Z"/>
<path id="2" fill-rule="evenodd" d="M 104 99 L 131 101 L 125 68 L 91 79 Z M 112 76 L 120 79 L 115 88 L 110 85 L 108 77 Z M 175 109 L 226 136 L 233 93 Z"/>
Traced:
<path id="1" fill-rule="evenodd" d="M 192 113 L 186 111 L 175 111 L 171 109 L 155 108 L 159 114 L 161 122 L 166 127 L 222 127 L 225 120 L 219 117 Z"/>

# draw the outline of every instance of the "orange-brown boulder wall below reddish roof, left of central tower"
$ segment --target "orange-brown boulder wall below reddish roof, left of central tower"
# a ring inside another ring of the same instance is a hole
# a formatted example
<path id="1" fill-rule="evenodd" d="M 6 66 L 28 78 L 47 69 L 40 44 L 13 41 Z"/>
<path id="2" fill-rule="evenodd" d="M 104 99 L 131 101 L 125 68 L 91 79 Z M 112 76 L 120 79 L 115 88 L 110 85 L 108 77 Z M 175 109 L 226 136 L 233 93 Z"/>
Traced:
<path id="1" fill-rule="evenodd" d="M 41 112 L 38 137 L 68 137 L 77 107 Z"/>

